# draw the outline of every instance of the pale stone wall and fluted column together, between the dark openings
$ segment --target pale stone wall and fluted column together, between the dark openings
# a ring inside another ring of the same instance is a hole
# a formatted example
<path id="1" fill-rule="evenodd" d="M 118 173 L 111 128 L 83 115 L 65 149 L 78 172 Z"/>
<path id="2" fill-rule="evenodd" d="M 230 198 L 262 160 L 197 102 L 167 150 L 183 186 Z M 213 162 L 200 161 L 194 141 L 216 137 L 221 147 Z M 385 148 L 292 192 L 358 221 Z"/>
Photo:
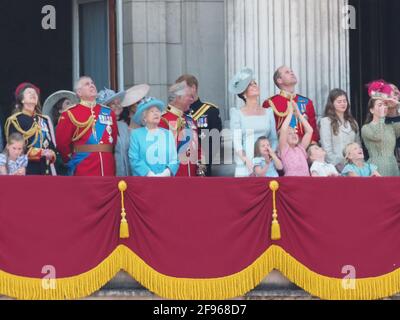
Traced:
<path id="1" fill-rule="evenodd" d="M 299 78 L 298 92 L 322 115 L 332 88 L 349 90 L 346 0 L 124 0 L 125 86 L 147 82 L 166 99 L 182 73 L 200 80 L 201 96 L 229 109 L 240 102 L 227 83 L 243 66 L 255 70 L 261 100 L 277 92 L 283 64 Z"/>

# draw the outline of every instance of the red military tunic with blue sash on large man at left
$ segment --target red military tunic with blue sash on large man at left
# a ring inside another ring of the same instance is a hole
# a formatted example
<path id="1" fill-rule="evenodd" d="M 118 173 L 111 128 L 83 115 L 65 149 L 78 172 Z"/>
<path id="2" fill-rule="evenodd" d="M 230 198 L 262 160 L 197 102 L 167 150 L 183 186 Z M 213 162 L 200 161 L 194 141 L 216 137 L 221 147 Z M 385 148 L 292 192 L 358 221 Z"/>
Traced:
<path id="1" fill-rule="evenodd" d="M 108 107 L 81 101 L 61 115 L 56 130 L 56 141 L 64 162 L 69 162 L 77 153 L 87 153 L 87 147 L 94 149 L 76 166 L 75 176 L 115 176 L 113 149 L 117 142 L 118 127 L 116 116 L 110 111 Z M 106 126 L 101 137 L 95 134 L 98 121 Z M 94 144 L 88 144 L 90 138 Z"/>

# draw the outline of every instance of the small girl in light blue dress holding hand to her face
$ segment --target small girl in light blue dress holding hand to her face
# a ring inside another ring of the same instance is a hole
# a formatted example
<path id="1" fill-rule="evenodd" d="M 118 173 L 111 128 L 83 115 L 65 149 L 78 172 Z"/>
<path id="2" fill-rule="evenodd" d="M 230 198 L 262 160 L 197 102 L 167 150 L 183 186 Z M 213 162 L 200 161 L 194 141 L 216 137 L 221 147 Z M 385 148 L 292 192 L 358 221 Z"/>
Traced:
<path id="1" fill-rule="evenodd" d="M 283 169 L 281 160 L 277 157 L 267 137 L 260 137 L 254 145 L 253 172 L 256 177 L 279 177 L 278 170 Z"/>

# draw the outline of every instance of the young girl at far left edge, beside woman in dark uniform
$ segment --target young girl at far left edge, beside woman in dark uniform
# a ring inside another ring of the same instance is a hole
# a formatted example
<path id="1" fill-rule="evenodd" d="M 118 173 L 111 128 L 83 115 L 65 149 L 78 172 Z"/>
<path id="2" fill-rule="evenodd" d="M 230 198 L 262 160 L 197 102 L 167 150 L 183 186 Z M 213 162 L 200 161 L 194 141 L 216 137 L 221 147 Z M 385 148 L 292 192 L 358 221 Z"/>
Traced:
<path id="1" fill-rule="evenodd" d="M 25 175 L 28 156 L 24 154 L 24 148 L 24 137 L 18 132 L 10 134 L 3 153 L 0 153 L 0 175 Z"/>

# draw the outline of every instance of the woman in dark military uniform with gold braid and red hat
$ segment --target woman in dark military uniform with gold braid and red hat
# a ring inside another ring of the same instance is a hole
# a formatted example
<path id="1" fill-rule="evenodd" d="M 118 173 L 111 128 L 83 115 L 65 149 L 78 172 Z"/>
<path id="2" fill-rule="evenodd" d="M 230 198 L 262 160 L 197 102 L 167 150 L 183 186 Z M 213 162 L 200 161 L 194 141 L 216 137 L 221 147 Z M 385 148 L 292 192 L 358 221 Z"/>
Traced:
<path id="1" fill-rule="evenodd" d="M 56 175 L 54 129 L 51 120 L 41 113 L 39 96 L 40 90 L 31 83 L 17 87 L 16 113 L 7 119 L 5 135 L 7 141 L 14 132 L 24 137 L 29 160 L 27 175 Z"/>

